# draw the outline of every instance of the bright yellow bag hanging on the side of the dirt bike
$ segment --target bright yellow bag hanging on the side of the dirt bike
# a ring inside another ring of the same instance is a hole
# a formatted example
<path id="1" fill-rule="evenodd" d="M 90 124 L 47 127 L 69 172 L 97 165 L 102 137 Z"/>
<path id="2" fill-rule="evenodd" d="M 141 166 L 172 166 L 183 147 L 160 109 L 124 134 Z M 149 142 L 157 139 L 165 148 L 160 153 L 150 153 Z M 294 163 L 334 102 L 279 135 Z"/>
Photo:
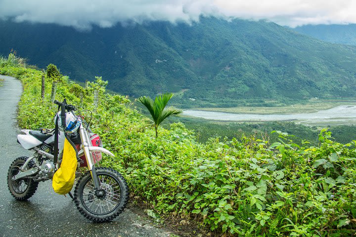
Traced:
<path id="1" fill-rule="evenodd" d="M 54 192 L 64 195 L 72 190 L 77 162 L 76 151 L 66 138 L 61 166 L 53 175 L 52 187 Z"/>

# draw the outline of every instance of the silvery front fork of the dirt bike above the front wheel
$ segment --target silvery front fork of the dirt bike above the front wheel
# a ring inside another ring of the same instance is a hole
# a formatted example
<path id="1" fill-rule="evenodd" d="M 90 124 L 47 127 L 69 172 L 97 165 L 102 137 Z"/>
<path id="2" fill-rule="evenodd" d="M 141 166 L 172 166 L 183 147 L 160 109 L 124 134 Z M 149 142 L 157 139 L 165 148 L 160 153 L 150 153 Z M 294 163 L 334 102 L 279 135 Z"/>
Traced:
<path id="1" fill-rule="evenodd" d="M 89 137 L 87 130 L 84 128 L 83 124 L 81 124 L 81 126 L 79 128 L 79 134 L 80 134 L 81 141 L 82 141 L 82 149 L 83 149 L 84 155 L 87 159 L 87 165 L 88 165 L 88 169 L 90 171 L 91 179 L 94 183 L 95 195 L 99 196 L 99 197 L 103 196 L 104 193 L 100 189 L 100 182 L 99 182 L 99 178 L 96 174 L 95 164 L 94 164 L 94 161 L 92 158 L 92 154 L 89 151 L 89 146 L 91 146 L 90 137 Z"/>

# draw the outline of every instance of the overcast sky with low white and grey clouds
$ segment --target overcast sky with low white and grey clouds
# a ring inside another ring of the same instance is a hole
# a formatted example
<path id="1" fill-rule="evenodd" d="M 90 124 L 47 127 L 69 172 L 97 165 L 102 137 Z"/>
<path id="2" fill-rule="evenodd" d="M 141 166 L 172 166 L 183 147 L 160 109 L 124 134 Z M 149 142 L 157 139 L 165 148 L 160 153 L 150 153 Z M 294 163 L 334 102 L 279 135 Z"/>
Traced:
<path id="1" fill-rule="evenodd" d="M 266 19 L 283 26 L 356 23 L 356 0 L 0 0 L 0 18 L 77 29 L 118 22 Z"/>

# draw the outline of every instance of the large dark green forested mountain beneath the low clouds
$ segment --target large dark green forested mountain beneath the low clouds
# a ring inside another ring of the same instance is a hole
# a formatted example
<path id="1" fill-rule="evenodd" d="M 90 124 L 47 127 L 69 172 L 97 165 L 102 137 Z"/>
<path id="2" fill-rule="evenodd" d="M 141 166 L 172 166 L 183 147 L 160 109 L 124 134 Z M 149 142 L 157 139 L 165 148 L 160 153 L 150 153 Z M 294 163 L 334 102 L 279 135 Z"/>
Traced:
<path id="1" fill-rule="evenodd" d="M 312 97 L 354 97 L 356 47 L 332 44 L 264 21 L 201 18 L 93 26 L 0 21 L 0 53 L 48 63 L 77 81 L 102 76 L 133 97 L 175 92 L 180 106 L 234 106 Z"/>

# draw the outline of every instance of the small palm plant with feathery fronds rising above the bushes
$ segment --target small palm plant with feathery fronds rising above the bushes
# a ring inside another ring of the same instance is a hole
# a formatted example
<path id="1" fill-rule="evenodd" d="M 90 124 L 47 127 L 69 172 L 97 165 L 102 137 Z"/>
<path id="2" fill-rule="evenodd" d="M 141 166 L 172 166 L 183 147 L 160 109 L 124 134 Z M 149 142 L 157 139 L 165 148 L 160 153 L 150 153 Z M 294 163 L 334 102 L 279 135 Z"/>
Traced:
<path id="1" fill-rule="evenodd" d="M 137 98 L 137 101 L 142 103 L 152 116 L 152 120 L 149 119 L 149 123 L 151 123 L 155 128 L 156 138 L 158 137 L 158 126 L 161 122 L 163 122 L 163 120 L 170 116 L 177 116 L 183 112 L 173 106 L 165 108 L 168 101 L 172 97 L 173 93 L 165 93 L 163 95 L 156 96 L 154 101 L 148 96 L 141 96 Z"/>

